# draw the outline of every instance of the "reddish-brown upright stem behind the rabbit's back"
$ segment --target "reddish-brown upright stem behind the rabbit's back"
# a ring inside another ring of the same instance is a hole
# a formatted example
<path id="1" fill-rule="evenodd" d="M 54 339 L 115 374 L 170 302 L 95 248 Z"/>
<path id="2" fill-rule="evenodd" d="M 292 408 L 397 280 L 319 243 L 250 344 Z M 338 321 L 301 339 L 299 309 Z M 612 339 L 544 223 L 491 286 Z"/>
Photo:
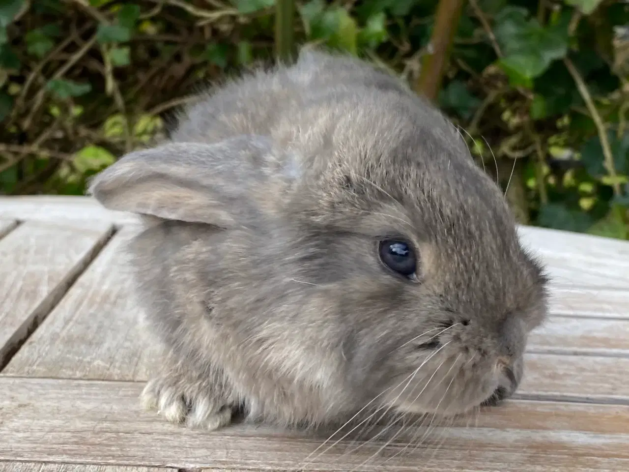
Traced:
<path id="1" fill-rule="evenodd" d="M 459 26 L 464 0 L 440 0 L 435 25 L 415 91 L 430 101 L 437 100 L 450 48 Z"/>

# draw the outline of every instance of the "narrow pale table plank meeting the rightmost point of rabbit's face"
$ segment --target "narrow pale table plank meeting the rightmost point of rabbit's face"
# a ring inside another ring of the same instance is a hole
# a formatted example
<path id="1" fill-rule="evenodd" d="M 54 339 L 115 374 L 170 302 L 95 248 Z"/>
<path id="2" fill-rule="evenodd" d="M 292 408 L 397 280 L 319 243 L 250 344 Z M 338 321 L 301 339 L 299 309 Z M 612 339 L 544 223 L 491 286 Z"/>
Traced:
<path id="1" fill-rule="evenodd" d="M 554 288 L 550 312 L 571 317 L 629 320 L 629 289 Z"/>

